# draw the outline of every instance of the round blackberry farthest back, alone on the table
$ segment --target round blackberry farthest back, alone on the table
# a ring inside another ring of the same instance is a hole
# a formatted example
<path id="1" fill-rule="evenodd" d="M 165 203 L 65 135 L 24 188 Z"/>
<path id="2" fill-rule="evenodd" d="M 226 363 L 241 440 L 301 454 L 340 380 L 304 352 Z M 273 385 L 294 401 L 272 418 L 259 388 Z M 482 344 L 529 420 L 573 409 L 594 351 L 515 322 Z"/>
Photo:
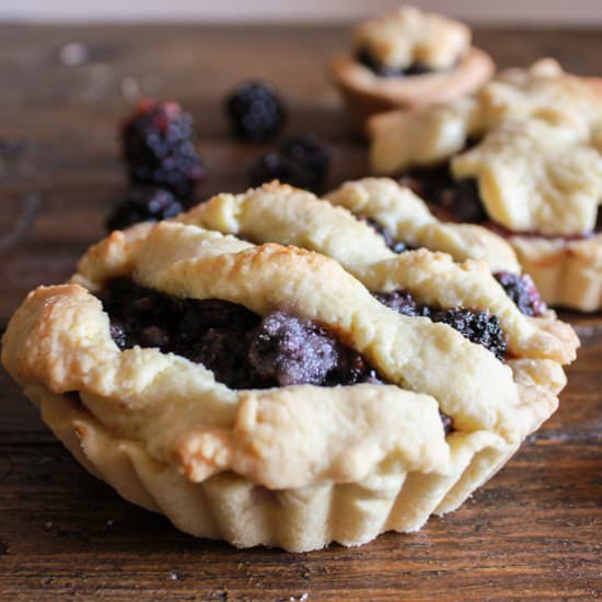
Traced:
<path id="1" fill-rule="evenodd" d="M 232 132 L 241 140 L 267 142 L 280 130 L 285 106 L 269 83 L 240 83 L 225 100 Z"/>

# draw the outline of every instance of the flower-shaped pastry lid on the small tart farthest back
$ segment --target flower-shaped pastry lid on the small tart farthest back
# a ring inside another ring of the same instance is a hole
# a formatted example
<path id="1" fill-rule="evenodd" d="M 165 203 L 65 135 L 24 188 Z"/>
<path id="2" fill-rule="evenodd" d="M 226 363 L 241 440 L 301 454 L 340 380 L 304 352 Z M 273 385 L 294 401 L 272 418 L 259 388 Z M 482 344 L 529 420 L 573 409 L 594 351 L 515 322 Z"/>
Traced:
<path id="1" fill-rule="evenodd" d="M 396 69 L 416 61 L 450 69 L 470 47 L 471 37 L 470 27 L 459 21 L 406 5 L 359 25 L 354 46 Z"/>

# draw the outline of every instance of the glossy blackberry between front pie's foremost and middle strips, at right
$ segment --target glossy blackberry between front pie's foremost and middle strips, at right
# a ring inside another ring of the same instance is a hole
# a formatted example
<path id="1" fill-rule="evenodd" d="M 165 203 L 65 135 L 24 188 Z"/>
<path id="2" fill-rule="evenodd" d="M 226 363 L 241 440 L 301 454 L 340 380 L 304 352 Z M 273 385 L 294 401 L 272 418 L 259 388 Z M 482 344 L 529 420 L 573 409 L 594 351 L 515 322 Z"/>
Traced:
<path id="1" fill-rule="evenodd" d="M 433 322 L 448 324 L 472 343 L 483 345 L 499 360 L 503 359 L 508 346 L 496 315 L 488 312 L 453 309 L 435 312 L 430 317 Z"/>

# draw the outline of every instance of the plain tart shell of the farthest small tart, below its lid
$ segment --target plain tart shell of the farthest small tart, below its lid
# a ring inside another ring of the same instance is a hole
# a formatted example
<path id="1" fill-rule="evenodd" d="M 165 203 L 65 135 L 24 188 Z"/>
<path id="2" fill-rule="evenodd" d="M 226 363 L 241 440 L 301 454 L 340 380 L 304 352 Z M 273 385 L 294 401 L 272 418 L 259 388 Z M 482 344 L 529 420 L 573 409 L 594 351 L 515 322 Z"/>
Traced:
<path id="1" fill-rule="evenodd" d="M 495 71 L 489 55 L 471 46 L 450 71 L 382 78 L 345 55 L 335 57 L 331 76 L 347 103 L 352 128 L 364 135 L 366 121 L 377 113 L 443 103 L 472 94 Z"/>

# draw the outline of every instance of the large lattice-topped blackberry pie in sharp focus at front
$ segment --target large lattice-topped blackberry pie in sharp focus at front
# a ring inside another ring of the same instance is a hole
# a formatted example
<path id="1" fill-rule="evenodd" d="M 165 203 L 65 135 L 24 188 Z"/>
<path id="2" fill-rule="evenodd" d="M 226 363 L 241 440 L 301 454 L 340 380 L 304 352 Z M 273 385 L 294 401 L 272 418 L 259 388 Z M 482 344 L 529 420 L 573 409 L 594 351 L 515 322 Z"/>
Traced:
<path id="1" fill-rule="evenodd" d="M 124 498 L 308 551 L 458 508 L 555 410 L 577 346 L 485 262 L 396 253 L 270 184 L 113 232 L 30 293 L 2 362 Z"/>

